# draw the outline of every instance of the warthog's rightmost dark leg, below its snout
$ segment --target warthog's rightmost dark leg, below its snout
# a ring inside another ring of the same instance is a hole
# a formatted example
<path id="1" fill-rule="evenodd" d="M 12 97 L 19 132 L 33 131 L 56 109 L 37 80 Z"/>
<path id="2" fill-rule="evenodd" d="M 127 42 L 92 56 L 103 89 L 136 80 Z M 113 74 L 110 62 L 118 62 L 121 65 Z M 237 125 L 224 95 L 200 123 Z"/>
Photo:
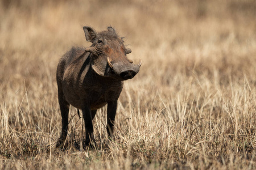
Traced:
<path id="1" fill-rule="evenodd" d="M 115 121 L 115 113 L 117 113 L 117 101 L 112 101 L 108 103 L 108 124 L 107 130 L 109 137 L 113 137 L 113 126 Z"/>

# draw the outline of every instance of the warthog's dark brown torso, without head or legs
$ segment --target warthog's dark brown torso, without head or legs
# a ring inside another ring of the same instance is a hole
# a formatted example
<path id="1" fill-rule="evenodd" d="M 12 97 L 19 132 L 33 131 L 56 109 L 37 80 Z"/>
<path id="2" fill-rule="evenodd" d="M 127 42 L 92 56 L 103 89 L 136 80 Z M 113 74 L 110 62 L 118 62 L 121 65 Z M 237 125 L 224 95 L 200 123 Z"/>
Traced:
<path id="1" fill-rule="evenodd" d="M 58 77 L 58 83 L 61 83 L 65 100 L 69 104 L 82 109 L 89 102 L 90 109 L 96 110 L 117 100 L 123 83 L 95 73 L 90 67 L 89 55 L 82 48 L 72 48 L 65 54 L 60 62 L 60 65 L 65 65 L 64 74 Z"/>

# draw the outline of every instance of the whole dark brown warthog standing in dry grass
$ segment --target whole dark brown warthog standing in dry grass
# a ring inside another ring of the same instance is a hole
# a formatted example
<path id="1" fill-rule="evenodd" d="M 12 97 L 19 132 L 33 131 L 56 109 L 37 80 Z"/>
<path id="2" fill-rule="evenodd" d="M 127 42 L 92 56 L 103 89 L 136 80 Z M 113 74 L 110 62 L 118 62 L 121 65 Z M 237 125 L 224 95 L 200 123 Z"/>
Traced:
<path id="1" fill-rule="evenodd" d="M 117 100 L 123 88 L 123 80 L 133 78 L 141 67 L 126 57 L 131 53 L 114 28 L 96 32 L 83 27 L 87 48 L 72 48 L 60 59 L 57 66 L 57 87 L 62 117 L 61 145 L 67 138 L 69 105 L 82 110 L 85 122 L 85 146 L 92 139 L 92 120 L 97 109 L 108 104 L 107 130 L 112 137 Z M 79 110 L 78 110 L 79 112 Z"/>

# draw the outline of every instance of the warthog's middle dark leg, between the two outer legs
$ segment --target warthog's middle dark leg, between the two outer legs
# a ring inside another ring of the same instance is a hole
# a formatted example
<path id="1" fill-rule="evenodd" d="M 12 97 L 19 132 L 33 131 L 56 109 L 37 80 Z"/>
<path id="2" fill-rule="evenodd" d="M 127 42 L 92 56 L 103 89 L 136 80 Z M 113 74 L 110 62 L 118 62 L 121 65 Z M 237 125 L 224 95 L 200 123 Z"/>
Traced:
<path id="1" fill-rule="evenodd" d="M 92 112 L 90 111 L 89 105 L 85 105 L 82 109 L 82 116 L 84 117 L 85 123 L 85 145 L 88 146 L 90 141 L 93 139 Z"/>

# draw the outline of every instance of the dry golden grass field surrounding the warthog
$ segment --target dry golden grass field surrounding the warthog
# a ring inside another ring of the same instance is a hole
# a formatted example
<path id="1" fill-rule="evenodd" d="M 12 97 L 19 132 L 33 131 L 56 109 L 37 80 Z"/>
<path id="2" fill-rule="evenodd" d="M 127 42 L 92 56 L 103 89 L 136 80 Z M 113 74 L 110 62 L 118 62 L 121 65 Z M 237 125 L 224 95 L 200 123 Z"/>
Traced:
<path id="1" fill-rule="evenodd" d="M 0 1 L 1 169 L 256 169 L 256 3 L 248 1 Z M 82 26 L 112 25 L 142 59 L 106 107 L 96 148 L 76 150 L 84 122 L 71 107 L 67 151 L 56 67 Z"/>

